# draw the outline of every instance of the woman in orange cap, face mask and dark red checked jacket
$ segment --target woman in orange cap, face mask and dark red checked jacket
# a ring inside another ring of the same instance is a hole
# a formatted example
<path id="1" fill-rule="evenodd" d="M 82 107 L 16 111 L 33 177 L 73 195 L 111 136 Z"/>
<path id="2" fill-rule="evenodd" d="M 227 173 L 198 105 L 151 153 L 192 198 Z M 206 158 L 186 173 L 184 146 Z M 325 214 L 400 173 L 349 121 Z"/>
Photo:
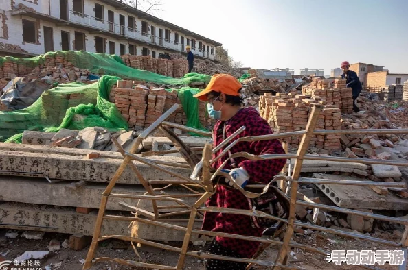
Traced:
<path id="1" fill-rule="evenodd" d="M 242 108 L 240 90 L 242 85 L 238 79 L 227 74 L 214 75 L 207 88 L 194 95 L 201 101 L 207 101 L 207 110 L 210 117 L 216 120 L 213 131 L 214 147 L 217 147 L 225 138 L 231 136 L 240 127 L 245 126 L 244 132 L 236 136 L 236 140 L 244 136 L 258 136 L 272 134 L 266 120 L 252 107 Z M 213 154 L 212 158 L 219 156 L 223 149 Z M 260 140 L 256 142 L 242 142 L 231 148 L 230 153 L 217 160 L 213 167 L 218 169 L 231 154 L 237 152 L 249 154 L 283 154 L 284 149 L 279 140 Z M 229 173 L 240 186 L 253 182 L 269 183 L 272 178 L 282 170 L 286 164 L 285 159 L 275 160 L 246 160 L 234 158 L 224 167 L 224 172 Z M 251 209 L 249 201 L 238 189 L 232 187 L 229 180 L 225 180 L 229 186 L 218 185 L 216 193 L 205 203 L 206 206 L 223 208 Z M 203 230 L 225 232 L 229 234 L 241 234 L 246 236 L 262 236 L 262 229 L 254 228 L 251 217 L 238 214 L 224 214 L 205 212 Z M 259 242 L 246 241 L 235 238 L 217 236 L 209 247 L 209 253 L 251 258 L 256 253 Z M 207 269 L 245 269 L 247 264 L 226 260 L 207 260 Z"/>

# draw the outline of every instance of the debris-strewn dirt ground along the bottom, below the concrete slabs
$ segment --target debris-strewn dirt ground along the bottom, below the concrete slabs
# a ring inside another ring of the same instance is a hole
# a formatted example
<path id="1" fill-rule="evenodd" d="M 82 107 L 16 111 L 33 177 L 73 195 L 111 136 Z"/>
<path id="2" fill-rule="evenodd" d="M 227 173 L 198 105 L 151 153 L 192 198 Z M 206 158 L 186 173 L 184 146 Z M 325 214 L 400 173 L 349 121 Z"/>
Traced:
<path id="1" fill-rule="evenodd" d="M 0 231 L 0 237 L 5 234 L 5 230 Z M 21 232 L 20 232 L 21 234 Z M 386 240 L 394 240 L 398 241 L 396 236 L 393 234 L 372 234 L 372 236 L 380 237 Z M 61 243 L 67 238 L 69 235 L 67 234 L 53 234 L 53 233 L 46 233 L 43 236 L 42 240 L 27 240 L 22 237 L 15 238 L 14 240 L 7 239 L 5 240 L 4 237 L 1 237 L 2 243 L 0 243 L 0 255 L 7 253 L 7 255 L 3 255 L 3 258 L 6 260 L 12 260 L 21 254 L 24 251 L 45 251 L 47 250 L 47 245 L 49 245 L 49 241 L 53 238 L 58 239 Z M 385 245 L 381 244 L 372 244 L 366 243 L 359 240 L 351 240 L 349 238 L 343 238 L 341 236 L 335 236 L 333 234 L 324 234 L 324 233 L 315 233 L 311 236 L 304 236 L 304 235 L 295 235 L 293 238 L 297 243 L 307 244 L 313 247 L 320 247 L 326 250 L 333 250 L 333 249 L 392 249 Z M 330 241 L 329 241 L 330 239 Z M 336 241 L 335 243 L 332 243 Z M 117 247 L 117 245 L 124 244 L 124 249 L 113 249 L 113 247 Z M 170 245 L 174 245 L 177 247 L 181 247 L 181 243 L 170 243 Z M 128 247 L 128 248 L 126 248 Z M 190 249 L 194 249 L 195 251 L 205 251 L 206 247 L 194 247 L 191 246 Z M 145 251 L 143 251 L 145 250 Z M 45 269 L 45 266 L 49 266 L 50 269 L 60 269 L 60 270 L 80 270 L 82 269 L 82 264 L 80 260 L 84 259 L 87 256 L 88 248 L 82 251 L 73 251 L 70 249 L 61 249 L 60 251 L 51 252 L 48 256 L 41 260 L 41 267 Z M 177 265 L 178 254 L 170 251 L 162 251 L 159 249 L 153 249 L 151 247 L 145 247 L 142 249 L 138 249 L 139 254 L 141 257 L 146 260 L 146 262 L 155 263 L 158 265 Z M 302 267 L 303 269 L 307 270 L 317 270 L 317 269 L 362 269 L 361 267 L 356 267 L 352 265 L 341 265 L 337 267 L 336 265 L 330 263 L 328 264 L 324 258 L 324 256 L 320 256 L 317 254 L 311 254 L 308 251 L 302 251 L 301 249 L 291 249 L 293 251 L 291 255 L 291 263 L 293 265 L 297 265 L 298 267 Z M 277 255 L 277 249 L 275 247 L 269 247 L 260 259 L 262 260 L 274 260 Z M 104 257 L 114 257 L 114 258 L 123 258 L 126 260 L 135 260 L 137 257 L 133 249 L 127 243 L 118 243 L 111 241 L 104 241 L 100 243 L 98 248 L 98 256 Z M 377 265 L 378 266 L 378 265 Z M 105 262 L 100 263 L 99 265 L 95 265 L 91 268 L 91 270 L 141 270 L 142 268 L 136 267 L 128 267 L 123 265 L 117 265 L 116 263 Z M 199 260 L 198 258 L 188 257 L 185 269 L 194 269 L 194 270 L 205 270 L 203 260 Z M 256 269 L 267 269 L 265 267 L 259 267 Z M 398 269 L 396 266 L 385 265 L 381 267 L 381 269 Z"/>

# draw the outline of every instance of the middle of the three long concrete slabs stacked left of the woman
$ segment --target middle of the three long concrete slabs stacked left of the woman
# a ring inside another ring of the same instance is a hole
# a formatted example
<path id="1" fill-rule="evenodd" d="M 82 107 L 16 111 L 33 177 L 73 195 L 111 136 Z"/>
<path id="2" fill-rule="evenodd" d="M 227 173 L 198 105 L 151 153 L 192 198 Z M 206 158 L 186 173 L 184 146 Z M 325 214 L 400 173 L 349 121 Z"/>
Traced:
<path id="1" fill-rule="evenodd" d="M 92 183 L 74 190 L 69 188 L 72 181 L 58 182 L 50 184 L 47 180 L 32 179 L 30 177 L 0 176 L 0 201 L 21 202 L 25 204 L 45 204 L 49 206 L 72 206 L 98 209 L 100 199 L 107 184 Z M 19 191 L 19 192 L 16 192 Z M 121 185 L 117 184 L 114 193 L 143 195 L 146 190 L 141 185 Z M 168 188 L 166 193 L 175 195 L 192 194 L 185 188 Z M 199 197 L 184 197 L 189 204 L 194 204 Z M 136 206 L 135 199 L 109 198 L 108 210 L 126 211 L 129 210 L 119 203 L 123 201 L 131 206 Z M 158 206 L 174 205 L 171 201 L 157 201 Z M 139 207 L 152 212 L 151 201 L 141 200 Z M 168 210 L 162 210 L 168 212 Z"/>

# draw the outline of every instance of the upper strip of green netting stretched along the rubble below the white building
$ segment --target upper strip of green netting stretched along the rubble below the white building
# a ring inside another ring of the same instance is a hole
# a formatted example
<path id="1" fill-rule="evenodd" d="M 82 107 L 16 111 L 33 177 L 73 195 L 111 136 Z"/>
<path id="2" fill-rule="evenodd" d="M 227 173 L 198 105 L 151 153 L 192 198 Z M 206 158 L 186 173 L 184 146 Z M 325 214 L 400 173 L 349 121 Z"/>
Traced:
<path id="1" fill-rule="evenodd" d="M 166 77 L 150 71 L 128 67 L 119 56 L 106 53 L 89 53 L 87 51 L 50 51 L 32 58 L 0 57 L 0 66 L 3 66 L 4 62 L 14 62 L 19 66 L 26 66 L 31 71 L 36 66 L 49 63 L 50 60 L 54 61 L 54 64 L 58 66 L 58 64 L 63 63 L 62 59 L 66 61 L 67 66 L 72 65 L 80 69 L 88 69 L 100 75 L 112 75 L 122 79 L 139 79 L 157 84 L 182 85 L 191 82 L 209 82 L 209 79 L 211 79 L 209 75 L 198 73 L 188 73 L 178 79 Z"/>

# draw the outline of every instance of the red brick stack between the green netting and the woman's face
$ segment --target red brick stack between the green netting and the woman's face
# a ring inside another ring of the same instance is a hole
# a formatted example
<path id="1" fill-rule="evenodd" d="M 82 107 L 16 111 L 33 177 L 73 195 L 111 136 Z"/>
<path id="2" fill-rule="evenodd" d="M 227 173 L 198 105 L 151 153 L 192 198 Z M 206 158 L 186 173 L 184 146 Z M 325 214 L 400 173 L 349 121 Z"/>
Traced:
<path id="1" fill-rule="evenodd" d="M 149 127 L 163 112 L 174 104 L 180 104 L 179 110 L 168 121 L 185 125 L 187 116 L 181 106 L 181 100 L 176 90 L 166 90 L 154 84 L 144 84 L 136 81 L 118 81 L 112 88 L 109 101 L 115 103 L 122 116 L 128 121 L 129 127 L 142 129 Z M 205 103 L 199 102 L 199 119 L 203 126 L 209 124 L 205 114 Z"/>

